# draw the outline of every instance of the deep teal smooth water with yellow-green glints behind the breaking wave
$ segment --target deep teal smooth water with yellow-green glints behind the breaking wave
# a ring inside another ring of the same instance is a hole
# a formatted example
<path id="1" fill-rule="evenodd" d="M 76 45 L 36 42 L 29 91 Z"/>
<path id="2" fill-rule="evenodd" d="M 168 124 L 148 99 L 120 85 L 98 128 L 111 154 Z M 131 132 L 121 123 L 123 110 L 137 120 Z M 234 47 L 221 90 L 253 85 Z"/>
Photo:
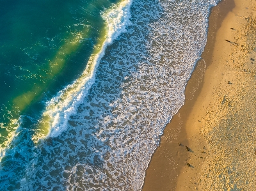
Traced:
<path id="1" fill-rule="evenodd" d="M 104 33 L 100 13 L 113 1 L 0 1 L 0 144 L 20 116 L 75 80 Z M 101 35 L 101 36 L 100 36 Z"/>

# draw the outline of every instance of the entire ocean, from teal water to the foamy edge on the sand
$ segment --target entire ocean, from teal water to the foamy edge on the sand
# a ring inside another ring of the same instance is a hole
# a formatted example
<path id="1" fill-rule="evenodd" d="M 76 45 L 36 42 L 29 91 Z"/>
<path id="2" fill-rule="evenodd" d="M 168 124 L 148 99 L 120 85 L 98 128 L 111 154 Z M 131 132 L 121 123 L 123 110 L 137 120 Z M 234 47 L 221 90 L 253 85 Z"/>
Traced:
<path id="1" fill-rule="evenodd" d="M 0 1 L 0 190 L 141 190 L 218 0 Z"/>

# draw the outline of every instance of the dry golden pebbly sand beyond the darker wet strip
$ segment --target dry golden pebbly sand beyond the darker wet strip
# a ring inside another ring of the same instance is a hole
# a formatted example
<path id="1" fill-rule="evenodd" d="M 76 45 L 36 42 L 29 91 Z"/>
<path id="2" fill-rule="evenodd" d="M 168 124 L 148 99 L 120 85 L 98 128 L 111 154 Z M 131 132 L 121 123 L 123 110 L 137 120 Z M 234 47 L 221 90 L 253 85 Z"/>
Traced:
<path id="1" fill-rule="evenodd" d="M 202 167 L 184 167 L 177 190 L 256 190 L 256 1 L 235 4 L 187 121 L 188 163 Z"/>

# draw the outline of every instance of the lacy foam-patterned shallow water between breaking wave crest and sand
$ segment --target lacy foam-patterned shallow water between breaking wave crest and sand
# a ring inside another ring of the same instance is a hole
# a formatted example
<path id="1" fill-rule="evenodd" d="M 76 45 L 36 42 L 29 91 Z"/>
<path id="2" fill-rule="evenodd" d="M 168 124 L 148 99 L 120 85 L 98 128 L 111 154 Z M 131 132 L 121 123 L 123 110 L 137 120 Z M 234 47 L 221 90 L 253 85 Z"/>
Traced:
<path id="1" fill-rule="evenodd" d="M 141 190 L 164 126 L 184 103 L 215 4 L 134 0 L 127 33 L 107 47 L 68 128 L 22 154 L 22 175 L 1 169 L 0 188 Z"/>

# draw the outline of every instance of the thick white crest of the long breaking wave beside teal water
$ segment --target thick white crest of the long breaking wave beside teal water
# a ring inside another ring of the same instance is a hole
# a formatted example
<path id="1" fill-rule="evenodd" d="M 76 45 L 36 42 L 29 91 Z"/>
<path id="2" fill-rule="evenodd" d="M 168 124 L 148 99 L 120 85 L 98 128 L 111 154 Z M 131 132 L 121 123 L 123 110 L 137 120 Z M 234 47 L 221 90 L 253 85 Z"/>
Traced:
<path id="1" fill-rule="evenodd" d="M 100 52 L 90 57 L 86 70 L 84 70 L 81 77 L 61 90 L 58 96 L 47 103 L 47 109 L 43 115 L 50 118 L 49 126 L 51 130 L 49 137 L 57 137 L 67 128 L 67 121 L 70 115 L 76 112 L 77 105 L 83 101 L 88 89 L 95 82 L 95 72 L 100 59 L 104 56 L 106 47 L 126 31 L 125 27 L 129 25 L 131 3 L 131 0 L 124 0 L 102 13 L 102 18 L 107 24 L 108 33 Z"/>

